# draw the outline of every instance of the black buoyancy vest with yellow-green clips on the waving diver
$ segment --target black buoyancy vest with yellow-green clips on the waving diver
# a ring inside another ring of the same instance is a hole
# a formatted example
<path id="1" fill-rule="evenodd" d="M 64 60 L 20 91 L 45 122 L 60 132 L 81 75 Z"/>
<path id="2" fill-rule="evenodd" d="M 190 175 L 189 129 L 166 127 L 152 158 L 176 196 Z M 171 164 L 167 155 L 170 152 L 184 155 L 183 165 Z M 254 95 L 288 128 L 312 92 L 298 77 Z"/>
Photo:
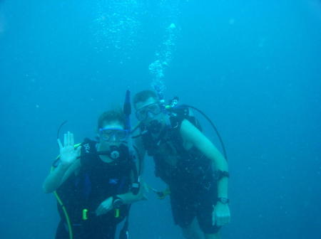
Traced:
<path id="1" fill-rule="evenodd" d="M 110 196 L 131 190 L 131 172 L 136 171 L 132 155 L 126 145 L 119 147 L 118 159 L 103 162 L 96 151 L 97 142 L 85 139 L 81 144 L 81 168 L 72 174 L 56 191 L 58 212 L 68 225 L 70 238 L 86 230 L 91 219 L 96 217 L 98 206 Z M 54 162 L 58 166 L 59 159 Z M 135 169 L 133 169 L 135 167 Z M 135 173 L 134 173 L 135 175 Z M 134 180 L 135 181 L 135 180 Z M 128 205 L 112 210 L 101 217 L 106 223 L 119 223 L 128 214 Z"/>

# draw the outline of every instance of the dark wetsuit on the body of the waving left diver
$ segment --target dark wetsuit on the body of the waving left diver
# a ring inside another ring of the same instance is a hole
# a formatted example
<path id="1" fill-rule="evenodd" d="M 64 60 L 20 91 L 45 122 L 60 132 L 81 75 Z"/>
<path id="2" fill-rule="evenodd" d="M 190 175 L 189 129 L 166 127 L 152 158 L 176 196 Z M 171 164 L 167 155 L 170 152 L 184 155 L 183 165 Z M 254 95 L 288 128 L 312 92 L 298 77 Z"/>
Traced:
<path id="1" fill-rule="evenodd" d="M 84 147 L 86 145 L 86 147 Z M 102 216 L 96 216 L 98 206 L 110 196 L 126 193 L 131 184 L 131 164 L 128 148 L 121 145 L 121 157 L 112 163 L 103 162 L 96 154 L 96 142 L 86 140 L 81 147 L 81 168 L 72 174 L 57 190 L 71 221 L 73 239 L 113 239 L 116 225 L 128 214 L 128 206 Z M 54 163 L 57 166 L 59 161 Z M 86 209 L 87 220 L 83 220 Z M 56 231 L 56 239 L 69 239 L 68 221 L 58 203 L 61 222 Z"/>

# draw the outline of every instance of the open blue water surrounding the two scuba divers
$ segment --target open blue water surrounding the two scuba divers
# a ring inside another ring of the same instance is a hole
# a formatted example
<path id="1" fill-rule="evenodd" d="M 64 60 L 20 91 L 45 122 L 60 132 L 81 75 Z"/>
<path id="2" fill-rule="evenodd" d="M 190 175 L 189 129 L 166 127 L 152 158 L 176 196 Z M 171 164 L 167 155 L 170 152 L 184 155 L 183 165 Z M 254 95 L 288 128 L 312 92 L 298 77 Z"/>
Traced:
<path id="1" fill-rule="evenodd" d="M 165 97 L 199 107 L 222 134 L 232 213 L 223 238 L 321 238 L 320 1 L 115 2 L 0 1 L 0 237 L 54 238 L 56 202 L 41 184 L 58 125 L 68 119 L 77 142 L 94 137 L 126 89 L 151 87 L 148 65 L 175 23 Z M 165 187 L 151 159 L 145 178 Z M 183 238 L 168 198 L 153 193 L 133 206 L 131 232 Z"/>

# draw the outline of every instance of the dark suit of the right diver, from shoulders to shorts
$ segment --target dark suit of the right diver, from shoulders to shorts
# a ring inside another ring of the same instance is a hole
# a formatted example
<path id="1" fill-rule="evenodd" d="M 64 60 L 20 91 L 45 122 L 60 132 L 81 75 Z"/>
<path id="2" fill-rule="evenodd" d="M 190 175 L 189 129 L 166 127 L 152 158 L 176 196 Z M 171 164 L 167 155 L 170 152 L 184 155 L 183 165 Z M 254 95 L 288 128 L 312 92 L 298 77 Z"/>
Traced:
<path id="1" fill-rule="evenodd" d="M 143 134 L 143 144 L 155 161 L 155 173 L 170 188 L 170 204 L 175 224 L 185 228 L 198 218 L 204 233 L 217 233 L 212 225 L 217 202 L 217 180 L 212 162 L 195 147 L 186 150 L 180 136 L 183 117 L 170 117 L 158 139 Z"/>

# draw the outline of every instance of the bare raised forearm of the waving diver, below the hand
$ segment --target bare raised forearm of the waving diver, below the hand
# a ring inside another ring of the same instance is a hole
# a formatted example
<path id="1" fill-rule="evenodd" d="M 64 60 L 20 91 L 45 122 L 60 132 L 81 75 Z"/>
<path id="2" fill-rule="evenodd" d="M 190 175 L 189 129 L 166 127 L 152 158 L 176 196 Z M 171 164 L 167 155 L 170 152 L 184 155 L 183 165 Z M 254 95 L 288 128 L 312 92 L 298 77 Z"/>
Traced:
<path id="1" fill-rule="evenodd" d="M 52 193 L 55 191 L 76 169 L 80 167 L 80 165 L 79 159 L 74 161 L 71 165 L 59 164 L 50 172 L 49 176 L 46 177 L 43 185 L 44 193 Z"/>

